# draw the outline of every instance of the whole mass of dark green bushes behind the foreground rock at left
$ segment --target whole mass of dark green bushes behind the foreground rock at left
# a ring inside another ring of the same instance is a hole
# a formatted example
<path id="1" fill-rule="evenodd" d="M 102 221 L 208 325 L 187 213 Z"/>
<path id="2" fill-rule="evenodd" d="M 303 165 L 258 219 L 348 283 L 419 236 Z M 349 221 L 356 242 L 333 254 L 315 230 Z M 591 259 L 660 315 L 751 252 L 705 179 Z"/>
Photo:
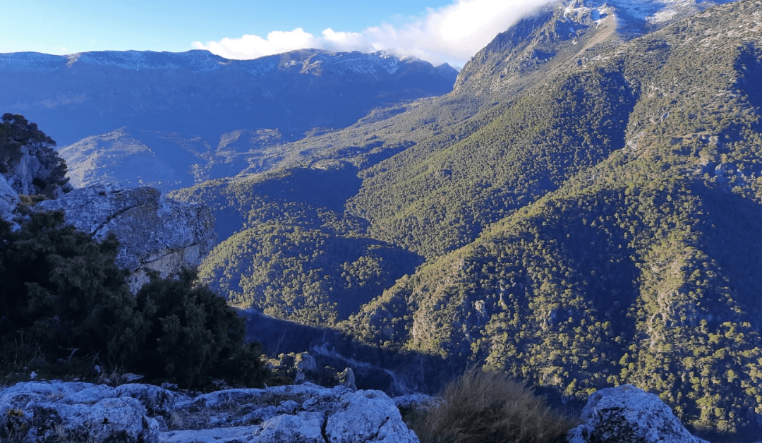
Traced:
<path id="1" fill-rule="evenodd" d="M 194 287 L 194 274 L 154 278 L 135 297 L 114 265 L 116 239 L 98 243 L 62 223 L 62 213 L 34 213 L 14 232 L 0 220 L 4 374 L 87 377 L 99 364 L 187 387 L 211 377 L 261 384 L 260 353 L 243 345 L 243 320 Z"/>

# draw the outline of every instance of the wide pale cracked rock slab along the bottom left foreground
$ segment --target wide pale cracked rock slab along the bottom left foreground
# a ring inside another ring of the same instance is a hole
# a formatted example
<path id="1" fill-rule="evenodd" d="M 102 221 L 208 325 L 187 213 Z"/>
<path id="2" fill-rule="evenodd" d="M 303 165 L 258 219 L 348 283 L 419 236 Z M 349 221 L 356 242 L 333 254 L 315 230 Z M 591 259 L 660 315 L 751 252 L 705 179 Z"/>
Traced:
<path id="1" fill-rule="evenodd" d="M 0 390 L 0 437 L 92 443 L 414 443 L 385 393 L 313 384 L 189 396 L 143 384 L 20 383 Z"/>

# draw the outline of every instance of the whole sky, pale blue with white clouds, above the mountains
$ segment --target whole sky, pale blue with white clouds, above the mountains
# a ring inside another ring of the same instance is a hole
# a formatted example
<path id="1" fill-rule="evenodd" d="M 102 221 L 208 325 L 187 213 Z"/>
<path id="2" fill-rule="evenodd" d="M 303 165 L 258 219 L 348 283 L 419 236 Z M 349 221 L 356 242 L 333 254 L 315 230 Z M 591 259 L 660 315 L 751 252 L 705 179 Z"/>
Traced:
<path id="1" fill-rule="evenodd" d="M 0 53 L 389 50 L 463 66 L 547 0 L 0 0 Z"/>

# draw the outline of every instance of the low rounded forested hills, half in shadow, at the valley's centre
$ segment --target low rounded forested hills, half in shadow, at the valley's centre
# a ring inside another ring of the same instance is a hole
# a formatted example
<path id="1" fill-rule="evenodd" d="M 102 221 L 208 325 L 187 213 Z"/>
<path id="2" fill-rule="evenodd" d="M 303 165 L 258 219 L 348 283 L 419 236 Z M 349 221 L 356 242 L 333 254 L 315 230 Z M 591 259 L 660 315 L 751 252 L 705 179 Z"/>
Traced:
<path id="1" fill-rule="evenodd" d="M 359 185 L 351 165 L 319 162 L 173 196 L 204 201 L 217 215 L 224 241 L 201 265 L 202 281 L 236 306 L 329 326 L 421 264 L 418 255 L 367 236 L 367 222 L 344 213 Z"/>

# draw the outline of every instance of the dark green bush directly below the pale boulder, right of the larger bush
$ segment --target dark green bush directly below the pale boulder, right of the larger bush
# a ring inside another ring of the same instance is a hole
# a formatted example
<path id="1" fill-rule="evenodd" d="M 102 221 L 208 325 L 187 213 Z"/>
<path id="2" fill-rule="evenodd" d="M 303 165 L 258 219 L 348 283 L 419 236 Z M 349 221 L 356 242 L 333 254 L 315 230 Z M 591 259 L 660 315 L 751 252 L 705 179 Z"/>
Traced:
<path id="1" fill-rule="evenodd" d="M 153 275 L 138 292 L 138 309 L 150 326 L 136 371 L 185 386 L 201 387 L 209 377 L 261 384 L 261 352 L 256 345 L 242 346 L 242 319 L 195 281 L 194 271 L 183 271 L 177 279 Z"/>

